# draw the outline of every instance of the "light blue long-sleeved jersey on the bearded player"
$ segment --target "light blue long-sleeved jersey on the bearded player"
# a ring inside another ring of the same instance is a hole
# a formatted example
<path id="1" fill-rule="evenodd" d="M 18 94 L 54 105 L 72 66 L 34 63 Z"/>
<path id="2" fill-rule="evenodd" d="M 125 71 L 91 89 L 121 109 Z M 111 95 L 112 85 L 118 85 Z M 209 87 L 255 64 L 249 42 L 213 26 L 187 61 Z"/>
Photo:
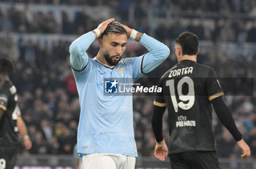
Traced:
<path id="1" fill-rule="evenodd" d="M 132 95 L 105 95 L 105 78 L 137 79 L 157 68 L 170 54 L 165 44 L 143 34 L 149 51 L 137 58 L 124 58 L 110 68 L 86 54 L 95 40 L 92 31 L 72 42 L 70 63 L 80 101 L 78 153 L 113 153 L 137 157 L 133 130 Z"/>

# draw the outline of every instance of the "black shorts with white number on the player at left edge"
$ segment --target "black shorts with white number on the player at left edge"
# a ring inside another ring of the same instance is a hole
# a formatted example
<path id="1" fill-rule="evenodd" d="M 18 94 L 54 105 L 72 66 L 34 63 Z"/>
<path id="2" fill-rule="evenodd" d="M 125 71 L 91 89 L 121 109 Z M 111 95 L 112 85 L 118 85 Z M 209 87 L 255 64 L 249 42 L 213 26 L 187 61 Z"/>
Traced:
<path id="1" fill-rule="evenodd" d="M 0 149 L 0 168 L 13 169 L 17 154 L 18 149 Z"/>

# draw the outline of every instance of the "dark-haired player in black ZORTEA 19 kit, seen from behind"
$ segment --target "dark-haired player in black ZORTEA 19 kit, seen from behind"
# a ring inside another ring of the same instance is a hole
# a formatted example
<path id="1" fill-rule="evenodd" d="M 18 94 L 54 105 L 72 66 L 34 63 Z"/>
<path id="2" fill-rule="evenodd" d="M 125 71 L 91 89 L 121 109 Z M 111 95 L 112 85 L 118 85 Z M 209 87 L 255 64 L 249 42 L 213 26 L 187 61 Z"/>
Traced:
<path id="1" fill-rule="evenodd" d="M 173 169 L 219 169 L 212 131 L 212 109 L 230 131 L 241 149 L 242 158 L 250 156 L 229 109 L 222 100 L 222 87 L 213 68 L 198 64 L 198 38 L 185 32 L 176 39 L 178 64 L 161 79 L 154 101 L 152 129 L 156 137 L 154 155 L 159 160 L 170 157 Z M 162 136 L 162 116 L 168 109 L 169 151 Z"/>

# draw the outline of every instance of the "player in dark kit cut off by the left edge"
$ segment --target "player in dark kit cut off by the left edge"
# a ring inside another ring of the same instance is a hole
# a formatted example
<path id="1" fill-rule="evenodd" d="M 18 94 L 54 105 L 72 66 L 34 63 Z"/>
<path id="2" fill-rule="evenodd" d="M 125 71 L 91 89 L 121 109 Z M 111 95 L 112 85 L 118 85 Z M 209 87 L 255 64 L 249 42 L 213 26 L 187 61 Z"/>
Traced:
<path id="1" fill-rule="evenodd" d="M 0 168 L 12 169 L 18 154 L 18 133 L 23 139 L 25 149 L 31 149 L 31 141 L 26 125 L 21 118 L 18 106 L 18 94 L 9 74 L 12 74 L 12 62 L 0 59 Z"/>

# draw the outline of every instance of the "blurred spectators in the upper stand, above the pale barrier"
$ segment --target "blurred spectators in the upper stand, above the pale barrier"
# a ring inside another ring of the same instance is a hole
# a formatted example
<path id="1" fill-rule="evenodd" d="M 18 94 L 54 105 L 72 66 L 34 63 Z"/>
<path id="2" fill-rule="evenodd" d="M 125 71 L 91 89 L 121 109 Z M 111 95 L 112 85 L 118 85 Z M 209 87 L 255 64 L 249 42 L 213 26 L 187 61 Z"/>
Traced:
<path id="1" fill-rule="evenodd" d="M 18 0 L 17 0 L 18 1 Z M 31 1 L 28 3 L 39 2 Z M 41 1 L 46 4 L 54 1 Z M 80 4 L 91 1 L 72 1 Z M 91 2 L 91 3 L 90 3 Z M 116 2 L 116 3 L 115 3 Z M 59 4 L 69 1 L 59 1 Z M 71 1 L 70 1 L 71 3 Z M 6 3 L 5 3 L 6 4 Z M 54 4 L 54 3 L 53 3 Z M 58 3 L 57 3 L 58 4 Z M 94 5 L 109 5 L 111 15 L 127 23 L 129 15 L 133 28 L 150 32 L 160 40 L 175 39 L 182 31 L 195 32 L 200 39 L 224 42 L 256 42 L 256 1 L 94 1 Z M 137 5 L 138 4 L 138 5 Z M 34 6 L 37 9 L 34 9 Z M 72 9 L 38 4 L 0 7 L 0 31 L 36 34 L 83 34 L 97 26 L 88 8 Z M 85 6 L 88 7 L 88 6 Z M 101 6 L 102 7 L 102 6 Z M 211 7 L 211 8 L 210 8 Z M 108 9 L 109 9 L 108 8 Z M 131 10 L 133 9 L 133 10 Z M 104 10 L 104 9 L 103 9 Z M 132 12 L 133 11 L 133 12 Z M 211 12 L 203 14 L 204 11 Z M 216 17 L 217 12 L 222 14 Z M 227 17 L 238 14 L 239 17 Z M 187 14 L 187 15 L 184 15 Z M 181 15 L 184 15 L 181 17 Z M 162 18 L 162 19 L 161 19 Z M 168 18 L 168 20 L 166 20 Z M 154 20 L 154 25 L 151 23 Z"/>

